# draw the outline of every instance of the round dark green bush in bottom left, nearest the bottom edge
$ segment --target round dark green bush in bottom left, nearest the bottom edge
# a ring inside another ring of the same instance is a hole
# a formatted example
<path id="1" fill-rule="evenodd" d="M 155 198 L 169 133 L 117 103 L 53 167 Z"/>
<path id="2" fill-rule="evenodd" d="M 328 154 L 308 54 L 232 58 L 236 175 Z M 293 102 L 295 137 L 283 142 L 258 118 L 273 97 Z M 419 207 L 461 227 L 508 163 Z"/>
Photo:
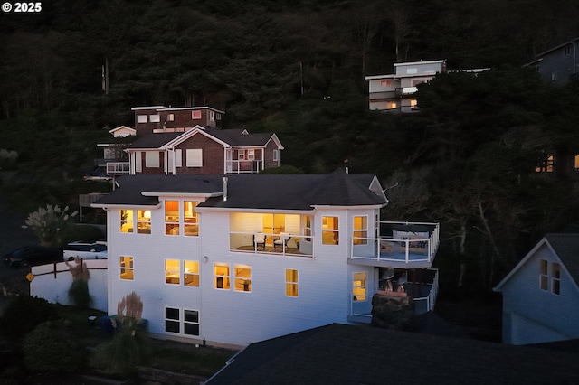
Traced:
<path id="1" fill-rule="evenodd" d="M 88 352 L 68 333 L 63 321 L 37 325 L 24 337 L 24 364 L 32 371 L 47 374 L 76 372 L 88 362 Z"/>

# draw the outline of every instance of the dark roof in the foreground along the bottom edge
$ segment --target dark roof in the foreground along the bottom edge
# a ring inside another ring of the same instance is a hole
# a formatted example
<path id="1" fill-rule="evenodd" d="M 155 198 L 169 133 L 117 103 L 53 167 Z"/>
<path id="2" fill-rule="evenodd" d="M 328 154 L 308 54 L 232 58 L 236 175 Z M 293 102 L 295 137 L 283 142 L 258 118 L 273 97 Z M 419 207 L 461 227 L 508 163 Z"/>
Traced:
<path id="1" fill-rule="evenodd" d="M 577 383 L 579 354 L 329 324 L 252 343 L 207 383 Z"/>

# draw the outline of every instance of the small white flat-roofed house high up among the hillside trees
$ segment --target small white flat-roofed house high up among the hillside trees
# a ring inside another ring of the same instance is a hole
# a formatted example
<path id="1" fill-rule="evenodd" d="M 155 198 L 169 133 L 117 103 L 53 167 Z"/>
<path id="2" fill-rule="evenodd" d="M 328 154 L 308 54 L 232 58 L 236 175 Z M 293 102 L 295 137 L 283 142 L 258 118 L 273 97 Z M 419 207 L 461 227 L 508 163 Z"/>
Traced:
<path id="1" fill-rule="evenodd" d="M 480 72 L 480 70 L 464 70 Z M 413 61 L 394 63 L 394 73 L 366 76 L 369 86 L 369 108 L 389 112 L 417 112 L 414 93 L 421 83 L 446 72 L 446 61 Z"/>

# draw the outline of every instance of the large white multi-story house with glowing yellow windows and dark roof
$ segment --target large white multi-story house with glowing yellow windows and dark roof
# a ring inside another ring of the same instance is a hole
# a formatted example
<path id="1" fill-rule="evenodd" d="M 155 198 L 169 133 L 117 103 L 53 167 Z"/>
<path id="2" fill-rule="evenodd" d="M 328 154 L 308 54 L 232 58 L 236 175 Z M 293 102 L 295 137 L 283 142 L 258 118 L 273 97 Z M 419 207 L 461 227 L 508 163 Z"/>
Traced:
<path id="1" fill-rule="evenodd" d="M 157 338 L 245 346 L 370 324 L 376 293 L 432 310 L 436 274 L 420 277 L 432 273 L 438 225 L 381 221 L 388 201 L 374 174 L 141 174 L 118 183 L 92 205 L 107 211 L 109 315 L 135 291 Z"/>

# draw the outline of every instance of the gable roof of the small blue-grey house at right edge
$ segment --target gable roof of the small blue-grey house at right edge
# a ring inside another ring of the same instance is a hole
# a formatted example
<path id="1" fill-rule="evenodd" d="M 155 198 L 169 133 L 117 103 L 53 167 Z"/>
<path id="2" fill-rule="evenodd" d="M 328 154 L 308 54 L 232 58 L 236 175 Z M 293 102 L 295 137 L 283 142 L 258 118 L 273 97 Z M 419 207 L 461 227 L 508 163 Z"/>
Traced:
<path id="1" fill-rule="evenodd" d="M 555 256 L 559 258 L 563 264 L 563 268 L 573 278 L 575 286 L 579 287 L 579 234 L 577 233 L 550 233 L 539 240 L 536 246 L 531 249 L 521 261 L 504 277 L 497 286 L 493 288 L 494 291 L 500 291 L 508 280 L 517 274 L 517 271 L 522 268 L 530 258 L 536 253 L 536 250 L 546 245 L 553 251 Z"/>

